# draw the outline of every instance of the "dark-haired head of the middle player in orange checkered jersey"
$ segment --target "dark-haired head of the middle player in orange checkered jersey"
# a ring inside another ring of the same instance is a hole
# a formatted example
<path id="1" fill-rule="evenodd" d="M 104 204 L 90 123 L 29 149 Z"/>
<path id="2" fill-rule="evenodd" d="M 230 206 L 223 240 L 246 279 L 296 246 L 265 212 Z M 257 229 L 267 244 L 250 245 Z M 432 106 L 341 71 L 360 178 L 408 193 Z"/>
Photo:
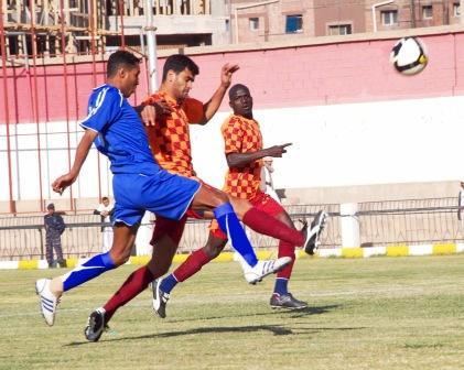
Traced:
<path id="1" fill-rule="evenodd" d="M 162 84 L 173 98 L 182 100 L 187 97 L 198 73 L 198 66 L 188 56 L 174 54 L 164 63 Z"/>

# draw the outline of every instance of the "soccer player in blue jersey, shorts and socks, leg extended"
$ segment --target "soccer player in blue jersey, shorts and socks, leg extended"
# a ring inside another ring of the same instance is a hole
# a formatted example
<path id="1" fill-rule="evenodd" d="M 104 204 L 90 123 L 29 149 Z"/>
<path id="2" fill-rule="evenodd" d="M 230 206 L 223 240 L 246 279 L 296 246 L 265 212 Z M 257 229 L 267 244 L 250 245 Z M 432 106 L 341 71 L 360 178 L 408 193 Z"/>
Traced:
<path id="1" fill-rule="evenodd" d="M 77 145 L 73 166 L 67 174 L 52 184 L 53 191 L 60 194 L 71 186 L 95 143 L 110 161 L 116 204 L 115 238 L 109 252 L 90 258 L 62 276 L 36 281 L 41 312 L 50 326 L 54 324 L 56 306 L 64 292 L 128 261 L 145 210 L 173 220 L 181 219 L 188 207 L 212 210 L 220 229 L 229 236 L 233 247 L 246 260 L 256 259 L 237 215 L 242 218 L 245 214 L 253 210 L 258 217 L 259 210 L 246 200 L 228 197 L 225 193 L 203 186 L 195 179 L 170 174 L 154 161 L 142 122 L 127 101 L 139 81 L 139 58 L 126 51 L 110 55 L 107 83 L 94 89 L 89 98 L 88 116 L 80 123 L 85 133 Z M 267 216 L 262 213 L 263 221 Z M 298 240 L 298 244 L 305 243 L 305 239 L 309 238 L 296 230 L 289 232 L 293 232 L 293 239 L 302 239 Z M 157 261 L 152 266 L 154 271 L 150 271 L 153 279 L 169 270 L 174 253 L 175 250 L 153 249 L 152 259 Z M 276 264 L 276 271 L 289 262 L 282 259 L 271 261 Z"/>

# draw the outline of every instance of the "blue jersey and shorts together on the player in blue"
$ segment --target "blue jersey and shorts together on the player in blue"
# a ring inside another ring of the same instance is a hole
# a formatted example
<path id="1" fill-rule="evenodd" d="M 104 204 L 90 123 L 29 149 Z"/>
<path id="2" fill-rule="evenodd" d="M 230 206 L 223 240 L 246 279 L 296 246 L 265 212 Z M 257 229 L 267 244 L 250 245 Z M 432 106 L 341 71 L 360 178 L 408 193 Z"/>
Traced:
<path id="1" fill-rule="evenodd" d="M 201 185 L 158 165 L 142 121 L 119 89 L 94 89 L 80 126 L 98 132 L 94 143 L 111 162 L 115 222 L 139 224 L 147 209 L 171 219 L 183 217 Z"/>

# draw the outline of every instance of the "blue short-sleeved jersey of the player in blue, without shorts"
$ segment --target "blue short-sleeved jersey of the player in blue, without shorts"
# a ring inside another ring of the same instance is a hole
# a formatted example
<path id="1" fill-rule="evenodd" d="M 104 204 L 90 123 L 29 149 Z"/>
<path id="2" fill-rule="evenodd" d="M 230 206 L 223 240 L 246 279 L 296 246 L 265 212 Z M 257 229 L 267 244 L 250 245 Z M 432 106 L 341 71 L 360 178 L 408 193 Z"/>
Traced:
<path id="1" fill-rule="evenodd" d="M 153 175 L 161 170 L 138 113 L 118 88 L 107 84 L 95 88 L 80 126 L 98 132 L 94 143 L 108 156 L 114 174 Z"/>

